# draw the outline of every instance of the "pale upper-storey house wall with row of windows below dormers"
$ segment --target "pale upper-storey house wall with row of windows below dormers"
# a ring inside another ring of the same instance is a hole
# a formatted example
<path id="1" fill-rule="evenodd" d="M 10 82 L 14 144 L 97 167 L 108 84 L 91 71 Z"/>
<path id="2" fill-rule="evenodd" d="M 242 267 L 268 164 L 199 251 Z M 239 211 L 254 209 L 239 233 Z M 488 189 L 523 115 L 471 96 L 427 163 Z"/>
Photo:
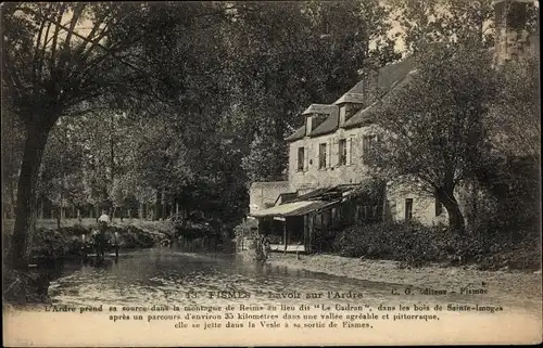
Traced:
<path id="1" fill-rule="evenodd" d="M 305 137 L 289 145 L 289 182 L 294 190 L 306 192 L 337 184 L 359 183 L 367 178 L 368 167 L 363 164 L 362 141 L 375 133 L 372 125 L 315 138 Z M 339 140 L 348 140 L 348 163 L 339 165 Z M 327 144 L 326 168 L 319 168 L 319 145 Z M 304 170 L 298 170 L 298 149 L 305 149 Z"/>

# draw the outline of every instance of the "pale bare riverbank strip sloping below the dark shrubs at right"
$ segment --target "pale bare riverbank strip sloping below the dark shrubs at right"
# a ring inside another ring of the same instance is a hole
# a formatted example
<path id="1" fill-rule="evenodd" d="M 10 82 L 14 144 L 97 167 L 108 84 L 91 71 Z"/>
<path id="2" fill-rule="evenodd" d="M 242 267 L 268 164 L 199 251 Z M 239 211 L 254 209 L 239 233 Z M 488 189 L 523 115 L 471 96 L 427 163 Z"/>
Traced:
<path id="1" fill-rule="evenodd" d="M 529 272 L 482 271 L 477 270 L 475 267 L 444 265 L 401 268 L 397 261 L 349 258 L 324 254 L 296 256 L 272 253 L 268 262 L 272 266 L 288 269 L 434 291 L 459 292 L 462 287 L 472 284 L 472 288 L 487 288 L 489 296 L 495 298 L 541 301 L 541 270 Z"/>

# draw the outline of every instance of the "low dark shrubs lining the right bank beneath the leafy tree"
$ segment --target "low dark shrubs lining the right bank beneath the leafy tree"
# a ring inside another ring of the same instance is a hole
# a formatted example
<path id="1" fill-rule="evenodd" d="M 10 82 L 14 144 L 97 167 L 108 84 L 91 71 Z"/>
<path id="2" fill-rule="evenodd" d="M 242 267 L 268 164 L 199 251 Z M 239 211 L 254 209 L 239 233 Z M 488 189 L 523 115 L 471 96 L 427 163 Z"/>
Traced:
<path id="1" fill-rule="evenodd" d="M 333 242 L 341 256 L 400 261 L 403 266 L 431 262 L 451 266 L 476 263 L 480 269 L 540 269 L 541 237 L 534 230 L 466 231 L 429 228 L 417 222 L 353 225 Z"/>

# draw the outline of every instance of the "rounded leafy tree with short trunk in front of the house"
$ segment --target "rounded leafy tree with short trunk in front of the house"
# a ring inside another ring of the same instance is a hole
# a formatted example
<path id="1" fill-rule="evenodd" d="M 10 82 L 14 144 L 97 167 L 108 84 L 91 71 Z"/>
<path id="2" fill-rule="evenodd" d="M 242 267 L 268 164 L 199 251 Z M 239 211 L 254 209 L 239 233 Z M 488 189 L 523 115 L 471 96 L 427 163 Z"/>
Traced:
<path id="1" fill-rule="evenodd" d="M 449 197 L 451 205 L 443 203 L 450 217 L 462 221 L 454 189 L 473 177 L 488 154 L 485 127 L 488 106 L 497 95 L 496 72 L 487 51 L 468 46 L 434 43 L 417 61 L 417 70 L 377 107 L 381 141 L 375 169 Z"/>

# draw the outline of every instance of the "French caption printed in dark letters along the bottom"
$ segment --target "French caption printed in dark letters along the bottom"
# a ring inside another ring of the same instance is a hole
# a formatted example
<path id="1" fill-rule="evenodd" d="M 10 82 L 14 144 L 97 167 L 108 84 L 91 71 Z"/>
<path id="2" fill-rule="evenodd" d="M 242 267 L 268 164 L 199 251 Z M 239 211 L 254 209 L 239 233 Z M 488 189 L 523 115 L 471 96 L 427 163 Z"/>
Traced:
<path id="1" fill-rule="evenodd" d="M 241 294 L 241 293 L 240 293 Z M 247 293 L 249 294 L 249 293 Z M 231 295 L 231 294 L 230 294 Z M 267 301 L 254 304 L 186 305 L 160 304 L 152 306 L 67 306 L 46 307 L 48 312 L 100 313 L 104 320 L 117 322 L 171 323 L 178 330 L 216 328 L 374 328 L 386 322 L 441 320 L 447 312 L 484 312 L 494 314 L 503 311 L 501 306 L 485 304 L 447 302 L 364 302 L 362 293 L 276 293 L 264 294 Z M 192 297 L 193 296 L 193 297 Z M 187 297 L 198 298 L 188 293 Z M 207 294 L 207 296 L 210 296 Z M 206 297 L 207 297 L 206 296 Z M 220 297 L 223 295 L 214 294 Z M 251 298 L 243 295 L 237 299 Z M 207 297 L 210 298 L 210 297 Z M 214 297 L 211 297 L 214 298 Z M 231 298 L 231 297 L 230 297 Z M 279 300 L 292 299 L 291 304 Z M 327 301 L 319 301 L 327 299 Z M 296 302 L 295 300 L 300 300 Z M 333 302 L 342 300 L 342 302 Z M 277 302 L 275 302 L 277 301 Z M 198 301 L 195 301 L 198 304 Z M 202 304 L 204 304 L 202 301 Z"/>

